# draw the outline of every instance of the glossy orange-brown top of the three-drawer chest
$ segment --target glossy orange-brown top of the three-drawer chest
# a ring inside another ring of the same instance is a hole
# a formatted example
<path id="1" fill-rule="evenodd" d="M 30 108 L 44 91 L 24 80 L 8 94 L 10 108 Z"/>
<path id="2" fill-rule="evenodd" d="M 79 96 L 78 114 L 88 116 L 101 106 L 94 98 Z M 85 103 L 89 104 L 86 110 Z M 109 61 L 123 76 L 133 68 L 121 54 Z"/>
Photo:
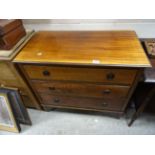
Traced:
<path id="1" fill-rule="evenodd" d="M 14 62 L 149 67 L 134 31 L 40 31 Z"/>

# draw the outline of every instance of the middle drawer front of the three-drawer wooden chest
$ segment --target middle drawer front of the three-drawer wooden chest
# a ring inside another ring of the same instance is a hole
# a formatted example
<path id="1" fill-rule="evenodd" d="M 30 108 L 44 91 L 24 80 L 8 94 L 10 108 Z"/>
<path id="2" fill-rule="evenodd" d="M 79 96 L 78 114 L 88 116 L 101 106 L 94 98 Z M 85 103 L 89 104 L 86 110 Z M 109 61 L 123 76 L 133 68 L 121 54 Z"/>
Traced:
<path id="1" fill-rule="evenodd" d="M 33 81 L 32 84 L 39 93 L 96 98 L 125 98 L 130 88 L 129 86 L 55 81 Z"/>

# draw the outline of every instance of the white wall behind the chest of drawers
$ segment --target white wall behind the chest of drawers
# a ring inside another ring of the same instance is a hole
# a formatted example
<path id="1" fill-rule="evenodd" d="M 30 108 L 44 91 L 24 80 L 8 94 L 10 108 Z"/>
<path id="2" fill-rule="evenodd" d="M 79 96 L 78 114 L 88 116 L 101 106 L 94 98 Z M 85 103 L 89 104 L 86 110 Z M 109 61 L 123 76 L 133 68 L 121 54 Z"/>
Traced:
<path id="1" fill-rule="evenodd" d="M 155 19 L 24 19 L 35 30 L 135 30 L 140 38 L 155 38 Z"/>

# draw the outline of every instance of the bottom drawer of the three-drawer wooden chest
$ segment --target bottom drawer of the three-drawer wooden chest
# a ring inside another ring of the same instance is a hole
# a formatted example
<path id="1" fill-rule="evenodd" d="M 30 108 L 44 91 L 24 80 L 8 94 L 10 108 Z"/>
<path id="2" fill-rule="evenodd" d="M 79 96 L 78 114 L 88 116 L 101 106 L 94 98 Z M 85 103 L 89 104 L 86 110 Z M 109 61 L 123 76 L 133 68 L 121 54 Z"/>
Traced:
<path id="1" fill-rule="evenodd" d="M 123 107 L 124 99 L 96 99 L 83 97 L 65 97 L 48 94 L 40 94 L 43 104 L 55 107 L 77 107 L 84 109 L 102 109 L 120 111 Z"/>

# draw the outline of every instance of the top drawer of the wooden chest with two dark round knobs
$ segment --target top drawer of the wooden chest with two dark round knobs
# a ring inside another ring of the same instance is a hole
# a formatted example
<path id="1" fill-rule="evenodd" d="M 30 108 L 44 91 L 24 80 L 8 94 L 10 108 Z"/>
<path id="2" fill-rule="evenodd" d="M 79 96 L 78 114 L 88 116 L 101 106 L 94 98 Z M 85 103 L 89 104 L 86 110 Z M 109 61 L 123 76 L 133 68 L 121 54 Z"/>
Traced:
<path id="1" fill-rule="evenodd" d="M 136 69 L 23 65 L 30 79 L 132 84 Z"/>

